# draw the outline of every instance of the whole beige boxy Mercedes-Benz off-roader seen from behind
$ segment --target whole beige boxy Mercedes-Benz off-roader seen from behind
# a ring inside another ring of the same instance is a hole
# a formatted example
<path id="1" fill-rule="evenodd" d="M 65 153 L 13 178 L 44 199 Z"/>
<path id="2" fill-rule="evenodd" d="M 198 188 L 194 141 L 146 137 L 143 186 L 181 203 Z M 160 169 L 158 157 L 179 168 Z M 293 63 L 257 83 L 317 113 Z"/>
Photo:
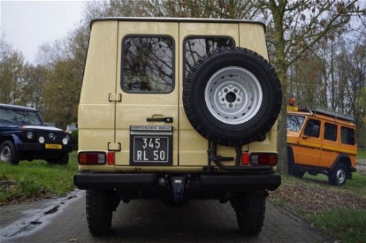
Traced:
<path id="1" fill-rule="evenodd" d="M 234 19 L 96 19 L 78 110 L 89 231 L 120 201 L 230 201 L 241 233 L 261 231 L 281 176 L 281 86 L 265 26 Z"/>

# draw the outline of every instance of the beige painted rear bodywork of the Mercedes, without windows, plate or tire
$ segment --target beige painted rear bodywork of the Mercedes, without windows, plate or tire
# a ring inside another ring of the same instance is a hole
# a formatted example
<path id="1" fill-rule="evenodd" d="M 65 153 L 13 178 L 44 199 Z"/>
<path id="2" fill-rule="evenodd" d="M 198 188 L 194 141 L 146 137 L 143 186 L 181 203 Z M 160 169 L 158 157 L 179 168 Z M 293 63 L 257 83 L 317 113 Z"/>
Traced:
<path id="1" fill-rule="evenodd" d="M 175 89 L 170 94 L 130 94 L 121 89 L 121 43 L 125 35 L 168 35 L 175 41 Z M 236 46 L 260 53 L 268 59 L 265 33 L 255 23 L 187 22 L 94 22 L 89 42 L 85 76 L 79 106 L 80 151 L 107 152 L 108 142 L 121 143 L 116 166 L 80 166 L 101 171 L 200 171 L 207 165 L 208 142 L 189 123 L 182 103 L 183 40 L 189 35 L 232 37 Z M 121 94 L 121 102 L 108 101 L 109 94 Z M 172 124 L 147 122 L 147 117 L 173 117 Z M 114 122 L 116 121 L 116 122 Z M 173 166 L 130 167 L 130 126 L 173 126 Z M 114 130 L 115 129 L 115 130 Z M 263 142 L 243 149 L 277 151 L 277 123 Z M 235 149 L 218 146 L 221 156 L 235 156 Z M 223 162 L 234 165 L 234 162 Z"/>

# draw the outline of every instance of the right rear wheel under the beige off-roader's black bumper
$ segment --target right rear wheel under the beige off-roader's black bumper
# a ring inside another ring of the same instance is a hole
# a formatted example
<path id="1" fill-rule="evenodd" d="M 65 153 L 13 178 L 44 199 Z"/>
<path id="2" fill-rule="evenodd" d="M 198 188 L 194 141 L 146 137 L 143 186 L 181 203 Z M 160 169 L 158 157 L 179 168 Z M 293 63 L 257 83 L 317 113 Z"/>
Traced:
<path id="1" fill-rule="evenodd" d="M 240 232 L 244 235 L 258 235 L 264 221 L 265 194 L 236 194 L 230 202 L 236 211 Z"/>

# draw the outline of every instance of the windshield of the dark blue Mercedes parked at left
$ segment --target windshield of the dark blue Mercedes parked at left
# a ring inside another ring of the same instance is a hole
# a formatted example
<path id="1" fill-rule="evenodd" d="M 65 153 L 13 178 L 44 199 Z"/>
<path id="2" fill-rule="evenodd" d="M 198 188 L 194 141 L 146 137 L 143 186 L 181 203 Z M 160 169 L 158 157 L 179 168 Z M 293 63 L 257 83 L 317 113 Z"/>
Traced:
<path id="1" fill-rule="evenodd" d="M 0 124 L 3 126 L 43 125 L 42 120 L 36 111 L 12 108 L 0 108 Z"/>

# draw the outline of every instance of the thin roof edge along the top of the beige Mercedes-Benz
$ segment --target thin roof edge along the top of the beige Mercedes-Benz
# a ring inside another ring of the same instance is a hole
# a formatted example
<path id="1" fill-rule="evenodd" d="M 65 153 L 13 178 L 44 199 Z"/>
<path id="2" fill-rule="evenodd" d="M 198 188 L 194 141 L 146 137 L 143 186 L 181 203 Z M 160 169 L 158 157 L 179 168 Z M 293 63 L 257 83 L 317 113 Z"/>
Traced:
<path id="1" fill-rule="evenodd" d="M 188 22 L 188 23 L 227 23 L 227 24 L 237 24 L 237 23 L 247 23 L 247 24 L 260 24 L 265 30 L 265 24 L 263 22 L 244 20 L 244 19 L 203 19 L 203 18 L 172 18 L 172 17 L 104 17 L 93 19 L 90 22 L 90 27 L 94 22 L 100 21 L 123 21 L 123 22 Z"/>

